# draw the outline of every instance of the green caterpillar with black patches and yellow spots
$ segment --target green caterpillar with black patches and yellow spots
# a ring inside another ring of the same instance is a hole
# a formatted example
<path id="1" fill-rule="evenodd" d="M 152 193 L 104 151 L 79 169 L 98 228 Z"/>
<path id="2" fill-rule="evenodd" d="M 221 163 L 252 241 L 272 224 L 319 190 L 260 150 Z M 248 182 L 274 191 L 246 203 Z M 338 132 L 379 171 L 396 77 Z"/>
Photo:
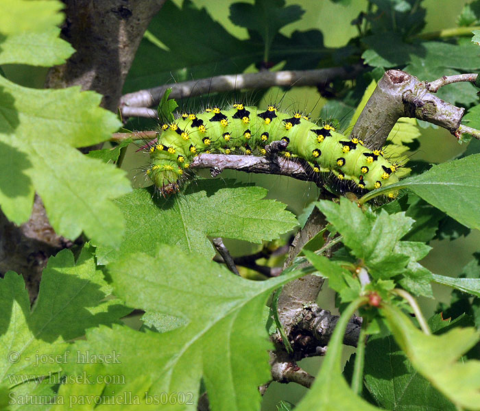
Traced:
<path id="1" fill-rule="evenodd" d="M 281 155 L 306 160 L 313 173 L 328 172 L 341 181 L 350 180 L 360 192 L 398 182 L 399 166 L 386 160 L 382 150 L 371 151 L 361 140 L 347 138 L 331 125 L 319 126 L 300 112 L 279 112 L 274 105 L 259 110 L 235 103 L 228 110 L 215 107 L 202 114 L 183 113 L 161 129 L 158 140 L 149 145 L 151 163 L 146 173 L 163 194 L 178 190 L 195 155 L 265 155 L 265 146 L 275 140 L 288 142 Z M 389 197 L 396 197 L 396 192 Z"/>

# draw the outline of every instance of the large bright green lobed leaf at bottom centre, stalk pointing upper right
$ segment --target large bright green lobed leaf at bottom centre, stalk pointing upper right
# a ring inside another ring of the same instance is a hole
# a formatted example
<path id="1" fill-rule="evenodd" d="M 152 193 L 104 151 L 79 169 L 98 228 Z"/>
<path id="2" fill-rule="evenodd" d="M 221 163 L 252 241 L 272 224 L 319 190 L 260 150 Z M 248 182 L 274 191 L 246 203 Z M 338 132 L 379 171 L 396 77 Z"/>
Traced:
<path id="1" fill-rule="evenodd" d="M 154 256 L 125 256 L 109 264 L 108 271 L 116 295 L 129 306 L 185 321 L 162 334 L 101 327 L 88 332 L 86 341 L 77 341 L 75 349 L 115 349 L 121 360 L 104 364 L 103 372 L 124 375 L 127 382 L 145 375 L 152 381 L 149 395 L 193 394 L 191 405 L 175 409 L 195 409 L 200 379 L 213 411 L 259 408 L 258 386 L 270 378 L 267 349 L 272 348 L 259 319 L 269 294 L 301 273 L 253 282 L 203 256 L 167 245 L 160 245 Z M 106 384 L 104 395 L 117 388 Z"/>

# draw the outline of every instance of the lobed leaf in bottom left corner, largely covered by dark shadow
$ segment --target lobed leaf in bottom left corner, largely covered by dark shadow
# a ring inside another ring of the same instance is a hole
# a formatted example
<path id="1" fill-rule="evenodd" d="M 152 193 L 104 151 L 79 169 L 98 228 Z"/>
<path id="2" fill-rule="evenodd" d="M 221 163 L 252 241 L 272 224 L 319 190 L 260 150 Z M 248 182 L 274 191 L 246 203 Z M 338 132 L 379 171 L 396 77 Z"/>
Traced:
<path id="1" fill-rule="evenodd" d="M 21 275 L 5 274 L 0 279 L 0 350 L 5 353 L 0 356 L 0 384 L 19 386 L 25 375 L 48 379 L 60 371 L 62 360 L 42 362 L 39 356 L 62 356 L 69 347 L 65 342 L 82 336 L 86 328 L 111 325 L 128 314 L 131 310 L 119 299 L 105 299 L 111 290 L 88 247 L 76 262 L 67 249 L 49 259 L 32 310 Z"/>

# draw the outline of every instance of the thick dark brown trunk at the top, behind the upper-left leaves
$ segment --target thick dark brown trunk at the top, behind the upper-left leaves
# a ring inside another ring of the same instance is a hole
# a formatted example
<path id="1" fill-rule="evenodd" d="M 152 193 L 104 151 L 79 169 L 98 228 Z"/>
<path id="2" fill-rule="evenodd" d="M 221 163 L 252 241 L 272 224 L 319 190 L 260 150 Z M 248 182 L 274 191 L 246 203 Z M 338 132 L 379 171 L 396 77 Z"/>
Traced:
<path id="1" fill-rule="evenodd" d="M 47 87 L 82 86 L 104 95 L 102 106 L 115 112 L 123 82 L 143 34 L 165 0 L 67 0 L 62 36 L 75 54 L 53 67 Z"/>

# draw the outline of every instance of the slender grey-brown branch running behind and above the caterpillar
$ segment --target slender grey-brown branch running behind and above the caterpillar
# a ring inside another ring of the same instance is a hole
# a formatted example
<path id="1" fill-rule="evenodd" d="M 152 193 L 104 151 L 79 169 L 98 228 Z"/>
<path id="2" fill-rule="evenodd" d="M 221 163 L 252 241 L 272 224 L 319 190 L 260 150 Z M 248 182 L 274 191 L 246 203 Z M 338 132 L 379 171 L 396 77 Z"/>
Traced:
<path id="1" fill-rule="evenodd" d="M 261 71 L 235 75 L 219 75 L 208 79 L 192 80 L 189 82 L 167 84 L 148 90 L 140 90 L 121 97 L 120 107 L 123 116 L 142 115 L 150 116 L 145 108 L 158 105 L 165 90 L 171 88 L 171 99 L 182 99 L 206 95 L 213 92 L 225 92 L 252 88 L 269 88 L 273 86 L 315 86 L 325 84 L 333 79 L 354 79 L 363 70 L 362 64 L 351 67 L 332 67 L 330 69 L 305 71 Z M 141 111 L 132 111 L 133 108 L 142 108 Z M 129 113 L 129 114 L 128 114 Z"/>

